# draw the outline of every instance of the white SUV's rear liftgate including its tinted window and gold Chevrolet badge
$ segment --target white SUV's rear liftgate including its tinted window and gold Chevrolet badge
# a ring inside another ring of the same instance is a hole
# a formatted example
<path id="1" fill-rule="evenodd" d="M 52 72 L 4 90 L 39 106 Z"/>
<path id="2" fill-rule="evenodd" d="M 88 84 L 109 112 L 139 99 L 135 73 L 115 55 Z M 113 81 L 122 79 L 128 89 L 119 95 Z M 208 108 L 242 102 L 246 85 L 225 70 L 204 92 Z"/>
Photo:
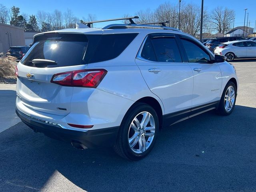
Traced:
<path id="1" fill-rule="evenodd" d="M 36 36 L 17 65 L 18 102 L 32 110 L 67 115 L 73 87 L 53 84 L 50 80 L 56 73 L 85 69 L 87 45 L 88 38 L 84 34 L 47 33 Z"/>

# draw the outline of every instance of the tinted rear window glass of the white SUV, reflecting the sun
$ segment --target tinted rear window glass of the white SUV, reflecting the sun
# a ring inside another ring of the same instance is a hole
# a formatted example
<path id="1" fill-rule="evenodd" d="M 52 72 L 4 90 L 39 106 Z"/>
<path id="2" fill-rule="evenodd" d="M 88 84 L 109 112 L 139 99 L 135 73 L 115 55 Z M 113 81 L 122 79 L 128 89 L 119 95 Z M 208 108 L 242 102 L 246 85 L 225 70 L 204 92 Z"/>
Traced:
<path id="1" fill-rule="evenodd" d="M 80 65 L 87 44 L 88 39 L 83 34 L 56 34 L 54 36 L 46 34 L 38 36 L 21 63 L 34 66 L 33 59 L 46 59 L 56 62 L 56 65 L 48 65 L 48 67 Z"/>

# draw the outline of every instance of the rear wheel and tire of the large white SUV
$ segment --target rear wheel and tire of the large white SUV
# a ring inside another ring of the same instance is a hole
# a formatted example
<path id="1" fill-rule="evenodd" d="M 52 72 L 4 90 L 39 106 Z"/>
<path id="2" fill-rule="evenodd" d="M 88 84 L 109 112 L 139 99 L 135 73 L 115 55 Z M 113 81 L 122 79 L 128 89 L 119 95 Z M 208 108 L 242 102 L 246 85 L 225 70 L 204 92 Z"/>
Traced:
<path id="1" fill-rule="evenodd" d="M 144 127 L 141 125 L 145 117 L 148 117 L 149 122 L 148 124 L 145 122 Z M 152 150 L 158 130 L 159 121 L 154 108 L 144 103 L 134 104 L 122 120 L 113 148 L 123 158 L 140 160 Z"/>

